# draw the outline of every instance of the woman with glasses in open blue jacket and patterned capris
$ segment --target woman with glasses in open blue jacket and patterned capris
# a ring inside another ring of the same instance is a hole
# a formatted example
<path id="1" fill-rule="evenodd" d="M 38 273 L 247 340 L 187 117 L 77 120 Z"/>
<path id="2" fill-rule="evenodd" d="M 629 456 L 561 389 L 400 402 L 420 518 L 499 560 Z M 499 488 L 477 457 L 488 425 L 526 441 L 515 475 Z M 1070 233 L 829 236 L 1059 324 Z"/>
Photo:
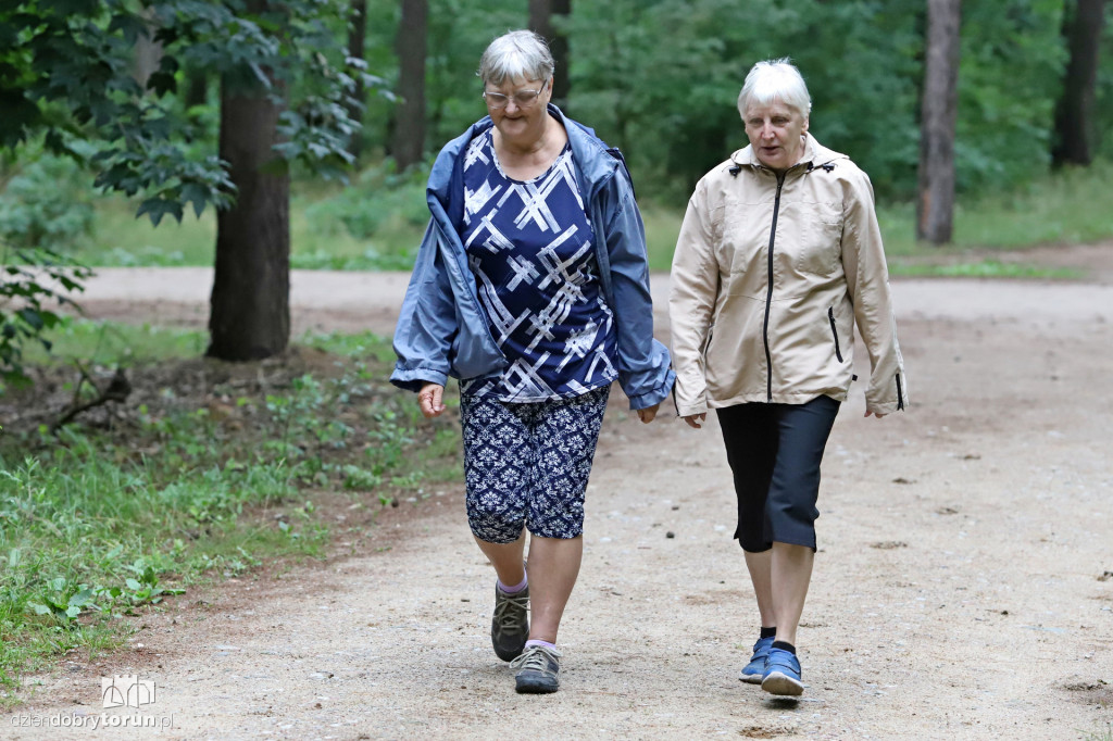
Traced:
<path id="1" fill-rule="evenodd" d="M 460 379 L 467 521 L 498 575 L 494 651 L 519 692 L 554 692 L 611 382 L 648 423 L 674 376 L 621 155 L 550 105 L 553 60 L 535 33 L 492 41 L 479 75 L 489 116 L 433 165 L 391 381 L 435 417 Z"/>

